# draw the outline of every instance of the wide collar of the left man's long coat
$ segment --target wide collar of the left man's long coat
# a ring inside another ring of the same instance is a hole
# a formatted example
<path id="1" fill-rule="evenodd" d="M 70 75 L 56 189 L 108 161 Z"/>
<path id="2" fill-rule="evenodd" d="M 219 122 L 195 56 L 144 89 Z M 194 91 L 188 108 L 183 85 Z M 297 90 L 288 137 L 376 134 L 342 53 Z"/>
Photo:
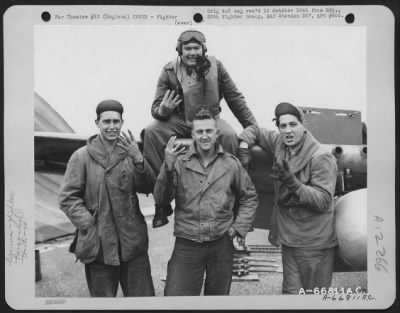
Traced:
<path id="1" fill-rule="evenodd" d="M 127 156 L 127 152 L 115 145 L 114 150 L 108 154 L 100 135 L 93 135 L 87 140 L 87 150 L 89 155 L 98 162 L 106 171 L 113 168 Z"/>

